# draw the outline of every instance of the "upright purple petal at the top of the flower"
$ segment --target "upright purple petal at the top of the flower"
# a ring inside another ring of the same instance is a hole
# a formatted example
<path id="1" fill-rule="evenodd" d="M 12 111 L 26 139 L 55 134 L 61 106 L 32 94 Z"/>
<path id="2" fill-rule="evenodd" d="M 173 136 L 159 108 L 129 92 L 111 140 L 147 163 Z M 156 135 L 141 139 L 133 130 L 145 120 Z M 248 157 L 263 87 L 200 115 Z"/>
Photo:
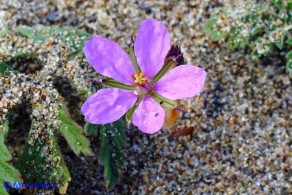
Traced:
<path id="1" fill-rule="evenodd" d="M 142 72 L 152 78 L 161 69 L 170 49 L 167 28 L 162 22 L 145 19 L 139 27 L 134 48 Z"/>

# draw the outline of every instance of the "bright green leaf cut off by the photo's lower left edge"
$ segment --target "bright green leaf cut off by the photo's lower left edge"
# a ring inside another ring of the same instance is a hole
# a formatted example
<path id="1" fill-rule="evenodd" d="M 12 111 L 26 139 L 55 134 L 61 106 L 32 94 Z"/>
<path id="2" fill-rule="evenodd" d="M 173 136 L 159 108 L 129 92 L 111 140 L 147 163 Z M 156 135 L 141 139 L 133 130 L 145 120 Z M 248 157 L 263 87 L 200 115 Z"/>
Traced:
<path id="1" fill-rule="evenodd" d="M 15 181 L 21 181 L 19 172 L 7 163 L 11 159 L 11 154 L 5 146 L 4 139 L 8 132 L 8 120 L 3 123 L 3 128 L 0 129 L 0 194 L 8 194 L 3 186 L 4 182 L 13 184 Z"/>

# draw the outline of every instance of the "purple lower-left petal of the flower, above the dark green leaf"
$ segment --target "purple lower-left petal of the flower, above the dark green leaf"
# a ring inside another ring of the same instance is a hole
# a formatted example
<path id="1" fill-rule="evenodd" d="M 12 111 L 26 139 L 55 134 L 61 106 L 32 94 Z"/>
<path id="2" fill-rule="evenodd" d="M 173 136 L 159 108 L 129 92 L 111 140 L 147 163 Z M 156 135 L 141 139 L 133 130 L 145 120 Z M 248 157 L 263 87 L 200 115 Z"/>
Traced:
<path id="1" fill-rule="evenodd" d="M 106 124 L 121 118 L 136 100 L 137 95 L 131 91 L 101 89 L 84 102 L 81 112 L 89 123 Z"/>

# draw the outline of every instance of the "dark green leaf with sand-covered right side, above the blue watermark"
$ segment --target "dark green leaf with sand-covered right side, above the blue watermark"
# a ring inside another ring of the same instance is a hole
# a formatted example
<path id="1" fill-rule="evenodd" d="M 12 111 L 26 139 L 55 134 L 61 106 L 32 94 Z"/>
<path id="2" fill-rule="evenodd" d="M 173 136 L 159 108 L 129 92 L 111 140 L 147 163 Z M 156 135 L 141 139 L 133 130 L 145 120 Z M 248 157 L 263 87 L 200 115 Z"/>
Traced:
<path id="1" fill-rule="evenodd" d="M 46 146 L 41 140 L 27 143 L 15 162 L 15 167 L 20 170 L 26 182 L 50 181 L 58 182 L 59 186 L 62 186 L 71 180 L 55 136 L 50 135 L 49 140 L 51 145 L 46 143 Z M 49 153 L 44 153 L 42 148 L 49 146 Z M 54 162 L 54 165 L 50 162 Z"/>

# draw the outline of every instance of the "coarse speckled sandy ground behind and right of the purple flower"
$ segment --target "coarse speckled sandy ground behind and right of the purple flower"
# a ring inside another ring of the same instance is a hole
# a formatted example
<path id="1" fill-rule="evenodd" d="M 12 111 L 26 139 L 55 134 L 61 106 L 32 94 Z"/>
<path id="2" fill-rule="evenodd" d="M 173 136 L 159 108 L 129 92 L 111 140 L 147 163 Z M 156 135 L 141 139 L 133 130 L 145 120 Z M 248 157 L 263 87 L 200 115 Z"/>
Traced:
<path id="1" fill-rule="evenodd" d="M 143 19 L 161 20 L 188 64 L 208 72 L 205 91 L 183 102 L 187 113 L 175 130 L 151 136 L 127 130 L 126 167 L 116 188 L 105 189 L 97 157 L 78 157 L 65 147 L 72 176 L 68 194 L 291 193 L 291 78 L 276 51 L 253 61 L 249 49 L 228 50 L 206 37 L 204 21 L 226 2 L 0 2 L 1 28 L 70 25 L 123 47 Z M 73 98 L 80 107 L 84 98 Z M 184 128 L 192 130 L 172 133 Z M 90 140 L 97 154 L 98 138 Z"/>

